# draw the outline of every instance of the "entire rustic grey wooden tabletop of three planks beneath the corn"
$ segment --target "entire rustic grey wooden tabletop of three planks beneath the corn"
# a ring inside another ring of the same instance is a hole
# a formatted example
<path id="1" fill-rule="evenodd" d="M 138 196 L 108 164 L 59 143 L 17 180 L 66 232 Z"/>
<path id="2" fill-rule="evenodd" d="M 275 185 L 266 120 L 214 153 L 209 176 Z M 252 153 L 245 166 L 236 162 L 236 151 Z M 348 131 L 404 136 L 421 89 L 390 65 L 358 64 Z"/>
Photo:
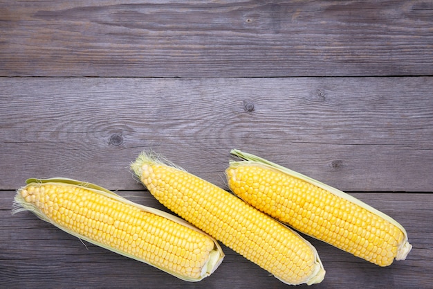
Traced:
<path id="1" fill-rule="evenodd" d="M 11 214 L 28 177 L 163 209 L 129 170 L 142 150 L 227 189 L 232 148 L 407 229 L 387 268 L 307 237 L 314 288 L 431 288 L 432 27 L 432 1 L 1 0 L 0 288 L 286 288 L 228 247 L 187 283 Z"/>

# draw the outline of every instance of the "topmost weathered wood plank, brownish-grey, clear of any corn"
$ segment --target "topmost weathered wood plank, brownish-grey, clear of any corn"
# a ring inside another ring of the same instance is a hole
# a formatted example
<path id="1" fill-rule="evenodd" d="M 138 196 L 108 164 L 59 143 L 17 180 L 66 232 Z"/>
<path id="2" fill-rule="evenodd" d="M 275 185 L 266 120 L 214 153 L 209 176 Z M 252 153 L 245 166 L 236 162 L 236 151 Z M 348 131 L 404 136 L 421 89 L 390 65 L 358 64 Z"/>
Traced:
<path id="1" fill-rule="evenodd" d="M 0 1 L 0 76 L 433 75 L 431 1 Z"/>

